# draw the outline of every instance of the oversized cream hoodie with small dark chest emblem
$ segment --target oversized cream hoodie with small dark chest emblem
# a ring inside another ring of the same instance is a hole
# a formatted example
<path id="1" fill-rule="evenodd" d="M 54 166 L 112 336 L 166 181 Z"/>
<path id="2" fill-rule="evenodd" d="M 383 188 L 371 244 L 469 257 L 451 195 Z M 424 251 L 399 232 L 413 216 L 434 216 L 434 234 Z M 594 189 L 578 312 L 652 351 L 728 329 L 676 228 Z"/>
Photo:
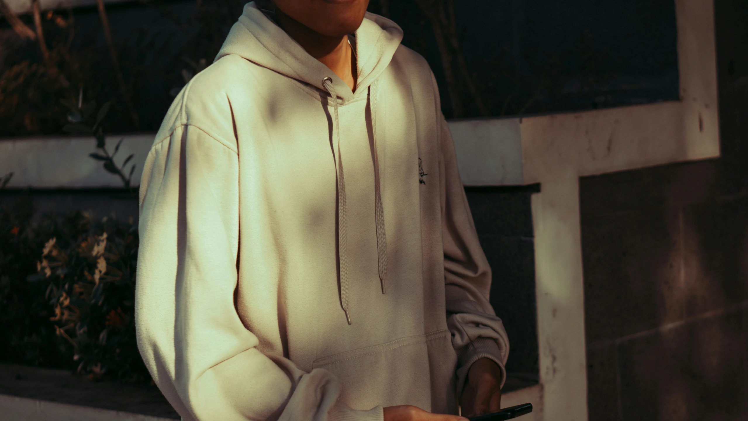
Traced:
<path id="1" fill-rule="evenodd" d="M 135 319 L 184 420 L 456 414 L 473 361 L 503 371 L 435 80 L 401 39 L 367 13 L 353 93 L 249 3 L 174 100 L 141 183 Z"/>

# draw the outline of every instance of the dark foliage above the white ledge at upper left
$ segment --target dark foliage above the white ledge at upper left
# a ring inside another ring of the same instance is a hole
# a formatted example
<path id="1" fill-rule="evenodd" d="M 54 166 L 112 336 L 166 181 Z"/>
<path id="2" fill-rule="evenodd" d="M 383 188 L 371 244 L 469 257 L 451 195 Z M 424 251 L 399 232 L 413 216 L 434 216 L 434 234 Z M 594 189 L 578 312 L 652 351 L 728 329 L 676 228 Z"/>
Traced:
<path id="1" fill-rule="evenodd" d="M 43 13 L 45 59 L 37 40 L 24 39 L 0 20 L 0 136 L 59 135 L 79 92 L 111 101 L 109 133 L 155 132 L 179 90 L 210 64 L 244 2 L 150 0 L 108 4 L 111 37 L 124 92 L 95 7 Z M 31 16 L 20 16 L 34 28 Z"/>

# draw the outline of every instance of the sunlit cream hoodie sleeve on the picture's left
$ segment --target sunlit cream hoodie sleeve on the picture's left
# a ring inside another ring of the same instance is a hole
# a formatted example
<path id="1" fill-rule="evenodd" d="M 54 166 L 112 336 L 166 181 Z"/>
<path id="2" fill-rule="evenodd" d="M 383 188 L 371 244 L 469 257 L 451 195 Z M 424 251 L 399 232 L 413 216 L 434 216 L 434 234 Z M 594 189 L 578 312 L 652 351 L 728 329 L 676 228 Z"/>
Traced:
<path id="1" fill-rule="evenodd" d="M 141 182 L 138 347 L 183 420 L 378 420 L 338 402 L 340 382 L 266 356 L 234 306 L 239 251 L 236 147 L 176 125 Z"/>

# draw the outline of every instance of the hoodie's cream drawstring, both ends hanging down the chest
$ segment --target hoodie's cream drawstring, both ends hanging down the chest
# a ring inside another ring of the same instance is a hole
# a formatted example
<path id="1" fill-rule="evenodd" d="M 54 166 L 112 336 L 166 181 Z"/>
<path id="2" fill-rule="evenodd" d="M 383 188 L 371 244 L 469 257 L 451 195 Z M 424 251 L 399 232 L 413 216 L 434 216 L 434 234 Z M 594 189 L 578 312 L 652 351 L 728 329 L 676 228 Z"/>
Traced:
<path id="1" fill-rule="evenodd" d="M 387 277 L 387 236 L 384 230 L 384 206 L 381 204 L 381 182 L 379 180 L 379 157 L 377 147 L 377 90 L 378 79 L 369 87 L 369 104 L 372 115 L 373 129 L 373 156 L 374 156 L 374 219 L 376 224 L 376 251 L 379 271 L 379 280 L 381 282 L 381 293 L 386 292 L 384 278 Z M 334 108 L 334 125 L 335 138 L 333 153 L 335 159 L 335 175 L 337 178 L 337 256 L 340 265 L 340 307 L 346 313 L 346 320 L 351 325 L 351 316 L 349 310 L 349 274 L 348 274 L 348 209 L 346 206 L 346 182 L 343 174 L 343 161 L 340 158 L 340 124 L 337 113 L 337 94 L 332 79 L 326 77 L 322 79 L 322 86 L 328 90 L 332 97 Z"/>

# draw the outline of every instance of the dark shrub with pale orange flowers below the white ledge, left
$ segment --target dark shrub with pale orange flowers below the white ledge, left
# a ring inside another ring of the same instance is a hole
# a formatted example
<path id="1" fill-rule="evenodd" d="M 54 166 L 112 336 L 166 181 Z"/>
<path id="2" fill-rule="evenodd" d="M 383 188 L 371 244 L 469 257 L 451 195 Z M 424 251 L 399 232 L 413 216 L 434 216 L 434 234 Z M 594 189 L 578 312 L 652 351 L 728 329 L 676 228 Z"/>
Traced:
<path id="1" fill-rule="evenodd" d="M 8 321 L 0 357 L 94 380 L 149 381 L 133 319 L 137 227 L 86 212 L 49 212 L 32 224 L 32 214 L 28 200 L 0 209 L 0 311 Z"/>

